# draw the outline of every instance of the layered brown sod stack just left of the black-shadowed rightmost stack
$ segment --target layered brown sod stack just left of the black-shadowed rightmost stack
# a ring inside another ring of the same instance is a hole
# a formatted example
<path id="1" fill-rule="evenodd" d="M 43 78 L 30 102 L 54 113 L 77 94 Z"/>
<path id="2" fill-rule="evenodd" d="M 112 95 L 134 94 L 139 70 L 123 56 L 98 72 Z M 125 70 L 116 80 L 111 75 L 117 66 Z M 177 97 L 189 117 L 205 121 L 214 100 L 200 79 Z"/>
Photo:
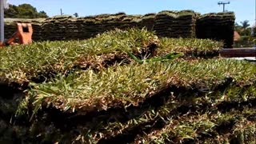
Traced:
<path id="1" fill-rule="evenodd" d="M 155 17 L 154 30 L 162 37 L 195 38 L 197 16 L 190 10 L 162 11 Z"/>

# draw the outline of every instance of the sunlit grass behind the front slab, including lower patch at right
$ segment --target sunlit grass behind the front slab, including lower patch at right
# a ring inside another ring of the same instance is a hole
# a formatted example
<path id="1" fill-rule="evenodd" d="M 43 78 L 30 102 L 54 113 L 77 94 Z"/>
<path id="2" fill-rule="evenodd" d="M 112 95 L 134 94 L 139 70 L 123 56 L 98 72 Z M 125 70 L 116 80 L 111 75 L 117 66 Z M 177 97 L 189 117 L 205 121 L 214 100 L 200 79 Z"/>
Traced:
<path id="1" fill-rule="evenodd" d="M 156 51 L 150 52 L 150 45 Z M 189 38 L 161 38 L 147 30 L 111 30 L 82 41 L 35 42 L 0 50 L 0 78 L 11 82 L 30 81 L 39 74 L 65 74 L 75 67 L 102 69 L 109 60 L 130 61 L 127 53 L 142 58 L 182 52 L 186 56 L 207 55 L 221 49 L 222 42 Z M 152 53 L 152 54 L 150 54 Z M 144 54 L 144 55 L 143 55 Z M 111 60 L 112 58 L 112 60 Z"/>

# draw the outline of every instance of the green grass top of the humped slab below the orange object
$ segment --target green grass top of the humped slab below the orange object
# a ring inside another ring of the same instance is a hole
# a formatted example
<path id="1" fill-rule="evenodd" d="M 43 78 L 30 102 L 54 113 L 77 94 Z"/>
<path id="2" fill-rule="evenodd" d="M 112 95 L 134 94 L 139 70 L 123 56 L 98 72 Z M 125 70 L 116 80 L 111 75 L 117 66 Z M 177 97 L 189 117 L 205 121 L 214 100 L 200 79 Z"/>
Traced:
<path id="1" fill-rule="evenodd" d="M 146 30 L 112 30 L 83 41 L 35 42 L 0 50 L 0 77 L 18 80 L 46 72 L 63 73 L 79 58 L 133 52 L 140 54 L 158 38 Z"/>

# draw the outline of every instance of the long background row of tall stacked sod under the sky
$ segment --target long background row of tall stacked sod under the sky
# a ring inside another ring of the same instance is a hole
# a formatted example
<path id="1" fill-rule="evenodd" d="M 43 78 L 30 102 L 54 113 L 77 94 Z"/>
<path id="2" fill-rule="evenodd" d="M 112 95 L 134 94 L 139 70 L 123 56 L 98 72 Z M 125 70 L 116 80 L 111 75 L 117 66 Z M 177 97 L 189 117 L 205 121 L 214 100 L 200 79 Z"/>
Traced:
<path id="1" fill-rule="evenodd" d="M 17 29 L 14 22 L 32 22 L 34 41 L 93 38 L 107 30 L 138 27 L 154 30 L 159 37 L 210 38 L 233 45 L 234 13 L 200 14 L 191 10 L 162 11 L 158 14 L 100 14 L 84 18 L 55 16 L 47 19 L 6 19 L 6 38 Z"/>

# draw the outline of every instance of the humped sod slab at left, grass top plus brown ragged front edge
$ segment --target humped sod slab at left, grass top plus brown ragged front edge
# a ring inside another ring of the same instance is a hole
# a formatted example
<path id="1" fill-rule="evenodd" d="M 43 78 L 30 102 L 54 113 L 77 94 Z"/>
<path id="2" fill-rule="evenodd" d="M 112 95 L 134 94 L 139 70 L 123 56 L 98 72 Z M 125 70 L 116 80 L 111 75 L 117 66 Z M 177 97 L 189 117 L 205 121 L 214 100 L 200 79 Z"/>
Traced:
<path id="1" fill-rule="evenodd" d="M 152 56 L 158 37 L 146 30 L 113 30 L 84 41 L 38 42 L 0 50 L 0 78 L 3 83 L 21 85 L 42 82 L 53 74 L 67 74 L 76 68 L 100 69 L 116 62 L 129 62 L 127 52 Z"/>

